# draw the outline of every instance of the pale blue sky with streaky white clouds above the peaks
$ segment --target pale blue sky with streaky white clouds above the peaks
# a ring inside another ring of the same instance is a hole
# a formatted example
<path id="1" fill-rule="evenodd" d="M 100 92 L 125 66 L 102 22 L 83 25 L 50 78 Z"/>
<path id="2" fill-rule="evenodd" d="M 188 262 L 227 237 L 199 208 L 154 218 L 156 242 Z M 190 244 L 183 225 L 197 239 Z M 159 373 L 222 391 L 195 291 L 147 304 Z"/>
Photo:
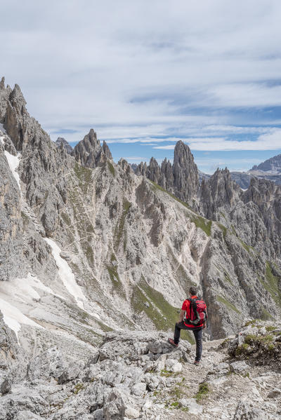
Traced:
<path id="1" fill-rule="evenodd" d="M 202 172 L 281 153 L 280 0 L 0 0 L 0 76 L 74 146 Z"/>

